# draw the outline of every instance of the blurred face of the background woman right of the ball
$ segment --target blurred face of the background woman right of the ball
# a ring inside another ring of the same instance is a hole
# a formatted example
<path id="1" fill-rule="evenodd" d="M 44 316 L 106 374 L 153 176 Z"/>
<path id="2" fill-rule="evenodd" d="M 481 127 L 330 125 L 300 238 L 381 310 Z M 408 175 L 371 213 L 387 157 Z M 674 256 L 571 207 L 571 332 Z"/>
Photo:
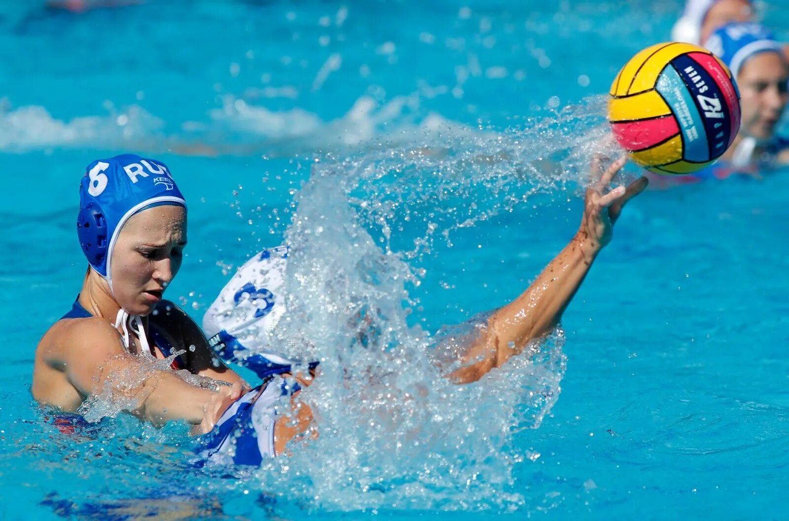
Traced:
<path id="1" fill-rule="evenodd" d="M 770 139 L 787 104 L 789 70 L 777 52 L 748 58 L 737 74 L 742 109 L 742 132 Z"/>

